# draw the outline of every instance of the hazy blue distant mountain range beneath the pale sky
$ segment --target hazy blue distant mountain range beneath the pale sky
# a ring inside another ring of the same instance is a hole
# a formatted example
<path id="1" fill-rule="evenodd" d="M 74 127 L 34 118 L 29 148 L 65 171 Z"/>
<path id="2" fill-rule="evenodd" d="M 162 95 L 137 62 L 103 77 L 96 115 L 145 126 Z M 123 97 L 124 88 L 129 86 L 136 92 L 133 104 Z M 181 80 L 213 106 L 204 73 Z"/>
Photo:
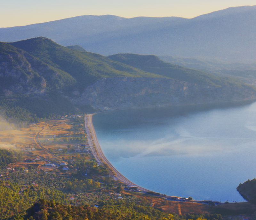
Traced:
<path id="1" fill-rule="evenodd" d="M 0 28 L 0 41 L 38 36 L 103 55 L 174 55 L 249 63 L 256 60 L 256 6 L 228 8 L 192 19 L 88 15 Z"/>

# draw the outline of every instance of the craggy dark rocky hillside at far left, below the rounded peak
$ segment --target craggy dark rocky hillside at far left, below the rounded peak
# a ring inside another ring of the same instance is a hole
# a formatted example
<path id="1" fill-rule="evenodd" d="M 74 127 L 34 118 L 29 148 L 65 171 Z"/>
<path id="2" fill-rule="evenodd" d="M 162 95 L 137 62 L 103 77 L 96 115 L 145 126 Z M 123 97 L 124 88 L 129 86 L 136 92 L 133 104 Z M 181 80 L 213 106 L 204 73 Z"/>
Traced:
<path id="1" fill-rule="evenodd" d="M 75 83 L 75 79 L 66 72 L 8 43 L 0 42 L 0 57 L 1 92 L 8 93 L 4 90 L 9 90 L 10 87 L 13 92 L 23 93 L 52 90 Z"/>

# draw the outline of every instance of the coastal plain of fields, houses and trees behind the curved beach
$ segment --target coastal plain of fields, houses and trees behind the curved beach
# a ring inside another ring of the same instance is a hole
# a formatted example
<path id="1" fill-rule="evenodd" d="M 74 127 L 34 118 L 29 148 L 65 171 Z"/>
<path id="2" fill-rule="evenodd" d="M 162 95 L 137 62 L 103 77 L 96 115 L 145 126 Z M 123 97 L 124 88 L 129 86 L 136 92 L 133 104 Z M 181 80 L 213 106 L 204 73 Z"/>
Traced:
<path id="1" fill-rule="evenodd" d="M 102 201 L 145 201 L 159 210 L 179 213 L 180 209 L 208 212 L 221 204 L 143 192 L 132 184 L 125 186 L 114 180 L 110 169 L 95 157 L 98 154 L 91 136 L 87 139 L 88 132 L 81 115 L 65 115 L 8 133 L 1 131 L 0 141 L 20 152 L 22 158 L 0 170 L 0 181 L 7 189 L 19 183 L 20 196 L 32 193 L 33 199 L 44 194 L 50 199 L 52 194 L 57 201 L 75 206 L 98 208 Z"/>

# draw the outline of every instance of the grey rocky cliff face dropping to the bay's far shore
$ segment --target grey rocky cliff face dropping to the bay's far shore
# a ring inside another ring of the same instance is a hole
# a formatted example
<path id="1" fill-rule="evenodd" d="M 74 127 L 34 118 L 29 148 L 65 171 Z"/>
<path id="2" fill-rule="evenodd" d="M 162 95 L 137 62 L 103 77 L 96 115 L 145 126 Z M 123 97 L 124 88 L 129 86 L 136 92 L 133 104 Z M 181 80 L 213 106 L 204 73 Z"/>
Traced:
<path id="1" fill-rule="evenodd" d="M 234 89 L 225 86 L 198 85 L 167 78 L 103 78 L 88 86 L 78 105 L 98 110 L 174 106 L 210 103 L 256 97 L 250 87 Z"/>

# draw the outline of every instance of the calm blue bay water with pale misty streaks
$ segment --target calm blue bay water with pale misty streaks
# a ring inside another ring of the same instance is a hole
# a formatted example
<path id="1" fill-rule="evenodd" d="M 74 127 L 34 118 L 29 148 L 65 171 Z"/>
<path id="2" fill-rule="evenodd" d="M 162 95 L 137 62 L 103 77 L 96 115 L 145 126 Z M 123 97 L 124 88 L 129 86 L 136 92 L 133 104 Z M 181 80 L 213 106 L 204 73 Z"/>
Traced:
<path id="1" fill-rule="evenodd" d="M 256 178 L 256 103 L 109 111 L 93 124 L 112 165 L 155 192 L 242 202 L 236 187 Z"/>

